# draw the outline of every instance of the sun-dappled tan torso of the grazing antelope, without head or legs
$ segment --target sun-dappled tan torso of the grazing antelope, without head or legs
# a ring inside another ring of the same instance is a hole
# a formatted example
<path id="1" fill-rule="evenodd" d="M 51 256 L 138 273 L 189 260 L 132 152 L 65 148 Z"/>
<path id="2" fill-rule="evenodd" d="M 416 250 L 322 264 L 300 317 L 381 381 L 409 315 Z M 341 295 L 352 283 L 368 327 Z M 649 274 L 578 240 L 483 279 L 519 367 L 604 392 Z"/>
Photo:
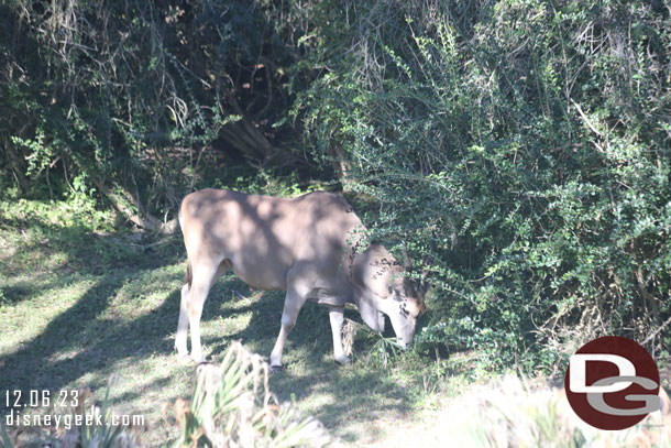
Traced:
<path id="1" fill-rule="evenodd" d="M 189 260 L 230 261 L 240 278 L 262 289 L 286 289 L 297 263 L 309 263 L 316 278 L 334 276 L 361 229 L 344 199 L 326 192 L 284 199 L 204 189 L 184 198 L 180 223 Z"/>

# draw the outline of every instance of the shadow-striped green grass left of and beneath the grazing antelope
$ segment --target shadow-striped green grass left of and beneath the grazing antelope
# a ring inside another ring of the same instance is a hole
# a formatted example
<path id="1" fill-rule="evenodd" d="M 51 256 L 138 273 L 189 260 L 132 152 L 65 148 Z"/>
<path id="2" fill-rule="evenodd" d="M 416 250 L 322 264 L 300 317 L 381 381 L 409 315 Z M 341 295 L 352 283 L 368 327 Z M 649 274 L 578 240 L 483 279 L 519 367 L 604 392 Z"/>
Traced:
<path id="1" fill-rule="evenodd" d="M 177 428 L 164 422 L 162 408 L 188 398 L 195 379 L 195 365 L 177 362 L 173 349 L 185 269 L 179 236 L 145 250 L 155 241 L 61 226 L 57 210 L 44 218 L 26 208 L 1 210 L 0 413 L 7 411 L 7 390 L 51 390 L 55 396 L 90 389 L 101 400 L 116 375 L 112 407 L 145 416 L 143 442 L 174 440 Z M 204 309 L 206 353 L 219 361 L 231 341 L 241 340 L 267 356 L 283 302 L 284 293 L 251 292 L 224 275 Z M 346 315 L 358 318 L 354 309 Z M 320 419 L 344 445 L 376 441 L 394 422 L 430 406 L 430 396 L 446 385 L 444 376 L 420 368 L 426 360 L 414 353 L 381 370 L 366 357 L 374 343 L 358 340 L 354 363 L 338 367 L 328 310 L 306 304 L 285 348 L 287 367 L 272 376 L 271 390 Z"/>

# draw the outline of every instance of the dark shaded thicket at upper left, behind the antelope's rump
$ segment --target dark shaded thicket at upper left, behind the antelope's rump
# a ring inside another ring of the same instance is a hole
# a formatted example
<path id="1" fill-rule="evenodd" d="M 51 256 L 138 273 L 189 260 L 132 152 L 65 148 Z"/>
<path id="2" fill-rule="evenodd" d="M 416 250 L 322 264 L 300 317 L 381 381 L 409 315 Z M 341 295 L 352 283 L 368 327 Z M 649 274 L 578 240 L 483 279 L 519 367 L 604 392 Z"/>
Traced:
<path id="1" fill-rule="evenodd" d="M 158 229 L 153 216 L 234 179 L 241 161 L 295 160 L 280 150 L 294 61 L 280 13 L 248 1 L 0 4 L 0 173 L 56 199 L 79 178 Z"/>

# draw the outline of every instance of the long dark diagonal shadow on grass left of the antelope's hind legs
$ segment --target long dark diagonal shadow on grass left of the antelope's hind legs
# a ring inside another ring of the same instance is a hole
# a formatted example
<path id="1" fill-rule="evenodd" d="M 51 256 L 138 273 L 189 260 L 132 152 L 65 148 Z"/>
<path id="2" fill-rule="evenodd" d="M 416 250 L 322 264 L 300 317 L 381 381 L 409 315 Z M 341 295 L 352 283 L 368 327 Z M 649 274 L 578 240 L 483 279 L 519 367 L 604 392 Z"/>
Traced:
<path id="1" fill-rule="evenodd" d="M 125 278 L 117 273 L 105 276 L 37 337 L 0 358 L 2 386 L 58 391 L 87 372 L 108 369 L 121 359 L 169 351 L 165 338 L 174 328 L 165 320 L 178 312 L 176 292 L 158 308 L 130 323 L 99 318 Z"/>

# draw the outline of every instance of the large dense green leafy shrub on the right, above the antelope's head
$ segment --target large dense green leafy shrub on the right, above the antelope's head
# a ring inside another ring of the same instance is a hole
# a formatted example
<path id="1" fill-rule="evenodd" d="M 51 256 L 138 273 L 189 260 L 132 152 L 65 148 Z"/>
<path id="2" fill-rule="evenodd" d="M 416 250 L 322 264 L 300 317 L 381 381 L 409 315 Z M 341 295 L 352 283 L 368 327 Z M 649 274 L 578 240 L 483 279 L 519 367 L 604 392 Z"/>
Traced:
<path id="1" fill-rule="evenodd" d="M 669 316 L 667 8 L 378 0 L 339 12 L 315 52 L 328 73 L 295 113 L 315 153 L 380 205 L 378 232 L 419 256 L 435 244 L 420 340 L 550 368 L 585 338 L 641 341 Z"/>

